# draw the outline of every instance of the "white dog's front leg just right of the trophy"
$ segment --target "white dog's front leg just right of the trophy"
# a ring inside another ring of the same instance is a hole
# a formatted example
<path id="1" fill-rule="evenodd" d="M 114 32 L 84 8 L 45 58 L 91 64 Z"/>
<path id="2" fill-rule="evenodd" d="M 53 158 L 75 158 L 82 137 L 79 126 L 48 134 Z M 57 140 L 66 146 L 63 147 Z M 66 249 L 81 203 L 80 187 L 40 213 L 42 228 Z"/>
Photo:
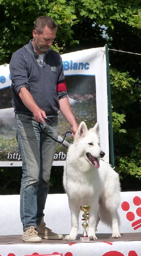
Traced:
<path id="1" fill-rule="evenodd" d="M 98 215 L 98 203 L 95 203 L 95 207 L 91 206 L 89 211 L 89 220 L 88 220 L 88 237 L 90 240 L 97 240 L 95 231 L 98 225 L 100 217 Z"/>

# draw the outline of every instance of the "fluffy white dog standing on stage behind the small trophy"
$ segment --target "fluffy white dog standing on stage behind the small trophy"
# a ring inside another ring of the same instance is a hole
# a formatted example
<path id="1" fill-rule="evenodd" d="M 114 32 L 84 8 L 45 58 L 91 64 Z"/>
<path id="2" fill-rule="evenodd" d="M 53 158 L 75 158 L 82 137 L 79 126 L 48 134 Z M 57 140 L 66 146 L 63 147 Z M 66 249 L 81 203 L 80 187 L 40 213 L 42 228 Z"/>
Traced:
<path id="1" fill-rule="evenodd" d="M 96 240 L 99 220 L 112 227 L 112 237 L 120 238 L 117 208 L 120 200 L 118 174 L 101 158 L 99 124 L 87 129 L 81 122 L 69 147 L 64 166 L 63 185 L 69 199 L 71 231 L 66 240 L 75 240 L 80 206 L 90 205 L 88 237 Z"/>

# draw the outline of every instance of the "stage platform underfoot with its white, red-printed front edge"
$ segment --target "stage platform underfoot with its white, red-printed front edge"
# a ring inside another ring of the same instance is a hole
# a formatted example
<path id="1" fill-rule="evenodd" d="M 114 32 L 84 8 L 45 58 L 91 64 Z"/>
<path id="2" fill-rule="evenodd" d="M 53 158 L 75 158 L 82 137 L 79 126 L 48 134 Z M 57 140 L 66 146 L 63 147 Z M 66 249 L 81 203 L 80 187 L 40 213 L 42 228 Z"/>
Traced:
<path id="1" fill-rule="evenodd" d="M 1 256 L 25 256 L 62 253 L 63 256 L 141 256 L 141 233 L 123 233 L 113 239 L 111 234 L 96 234 L 98 240 L 42 240 L 42 243 L 26 243 L 21 235 L 0 236 Z"/>

